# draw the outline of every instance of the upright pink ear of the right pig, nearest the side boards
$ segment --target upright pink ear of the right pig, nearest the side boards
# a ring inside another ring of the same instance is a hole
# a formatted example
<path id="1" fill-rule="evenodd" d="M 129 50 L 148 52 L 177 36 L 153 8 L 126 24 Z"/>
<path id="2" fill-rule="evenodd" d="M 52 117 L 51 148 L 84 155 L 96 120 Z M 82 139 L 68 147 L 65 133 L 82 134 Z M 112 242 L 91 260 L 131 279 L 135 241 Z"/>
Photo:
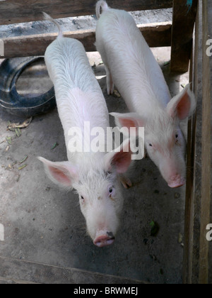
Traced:
<path id="1" fill-rule="evenodd" d="M 192 116 L 195 109 L 196 100 L 194 93 L 190 90 L 190 84 L 187 84 L 182 92 L 172 98 L 169 104 L 167 104 L 167 113 L 172 116 L 172 118 L 177 117 L 179 120 L 184 120 Z"/>

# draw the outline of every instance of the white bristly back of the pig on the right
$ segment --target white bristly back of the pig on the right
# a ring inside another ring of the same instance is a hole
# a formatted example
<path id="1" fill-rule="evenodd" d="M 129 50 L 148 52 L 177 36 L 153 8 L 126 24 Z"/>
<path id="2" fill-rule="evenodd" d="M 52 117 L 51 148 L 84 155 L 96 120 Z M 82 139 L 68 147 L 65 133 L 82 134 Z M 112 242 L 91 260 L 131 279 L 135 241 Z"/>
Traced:
<path id="1" fill-rule="evenodd" d="M 96 40 L 130 111 L 148 113 L 157 104 L 167 105 L 171 96 L 163 72 L 129 13 L 115 9 L 102 13 Z"/>

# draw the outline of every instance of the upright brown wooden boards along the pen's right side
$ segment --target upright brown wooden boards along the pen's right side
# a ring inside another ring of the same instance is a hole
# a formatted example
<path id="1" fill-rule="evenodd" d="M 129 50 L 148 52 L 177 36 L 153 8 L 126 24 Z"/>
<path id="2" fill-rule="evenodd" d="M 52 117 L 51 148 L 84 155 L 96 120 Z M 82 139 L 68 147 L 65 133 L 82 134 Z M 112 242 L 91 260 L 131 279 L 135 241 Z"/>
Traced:
<path id="1" fill-rule="evenodd" d="M 203 5 L 203 15 L 202 15 Z M 212 283 L 212 250 L 206 226 L 212 223 L 212 57 L 206 55 L 206 40 L 212 37 L 212 3 L 199 0 L 196 17 L 193 89 L 196 114 L 189 123 L 190 148 L 184 231 L 183 282 Z"/>

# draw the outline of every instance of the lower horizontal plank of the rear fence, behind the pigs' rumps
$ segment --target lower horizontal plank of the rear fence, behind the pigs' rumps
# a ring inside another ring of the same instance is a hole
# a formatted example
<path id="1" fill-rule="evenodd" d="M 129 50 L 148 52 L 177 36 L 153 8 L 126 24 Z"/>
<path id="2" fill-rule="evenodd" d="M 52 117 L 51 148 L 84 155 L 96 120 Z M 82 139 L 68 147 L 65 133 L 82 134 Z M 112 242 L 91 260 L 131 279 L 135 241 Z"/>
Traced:
<path id="1" fill-rule="evenodd" d="M 139 25 L 139 29 L 151 47 L 170 46 L 171 22 Z M 18 36 L 4 39 L 4 57 L 28 57 L 44 55 L 47 46 L 57 38 L 57 33 Z M 87 52 L 95 51 L 95 30 L 64 32 L 64 36 L 80 40 Z"/>

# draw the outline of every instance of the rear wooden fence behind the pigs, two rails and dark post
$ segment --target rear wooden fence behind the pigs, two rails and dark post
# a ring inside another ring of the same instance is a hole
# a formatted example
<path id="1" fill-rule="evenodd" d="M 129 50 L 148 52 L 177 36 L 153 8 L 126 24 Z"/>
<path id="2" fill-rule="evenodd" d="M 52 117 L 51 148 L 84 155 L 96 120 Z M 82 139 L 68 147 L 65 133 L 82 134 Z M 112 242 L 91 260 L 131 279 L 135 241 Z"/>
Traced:
<path id="1" fill-rule="evenodd" d="M 1 24 L 24 23 L 41 21 L 42 11 L 49 13 L 52 18 L 70 16 L 86 16 L 95 14 L 95 4 L 98 0 L 7 0 L 0 1 Z M 147 9 L 166 9 L 173 7 L 172 32 L 170 42 L 170 28 L 159 26 L 141 31 L 151 47 L 172 46 L 171 71 L 187 72 L 192 49 L 192 35 L 196 17 L 198 0 L 107 0 L 107 4 L 114 9 L 126 11 L 141 11 Z M 188 4 L 192 3 L 192 6 Z M 159 30 L 160 29 L 160 30 Z M 78 31 L 66 33 L 66 36 L 81 40 L 87 51 L 95 50 L 93 31 Z M 34 35 L 18 38 L 8 38 L 5 41 L 5 57 L 22 57 L 43 55 L 44 45 L 54 40 L 55 35 Z M 17 53 L 14 48 L 17 47 Z"/>

